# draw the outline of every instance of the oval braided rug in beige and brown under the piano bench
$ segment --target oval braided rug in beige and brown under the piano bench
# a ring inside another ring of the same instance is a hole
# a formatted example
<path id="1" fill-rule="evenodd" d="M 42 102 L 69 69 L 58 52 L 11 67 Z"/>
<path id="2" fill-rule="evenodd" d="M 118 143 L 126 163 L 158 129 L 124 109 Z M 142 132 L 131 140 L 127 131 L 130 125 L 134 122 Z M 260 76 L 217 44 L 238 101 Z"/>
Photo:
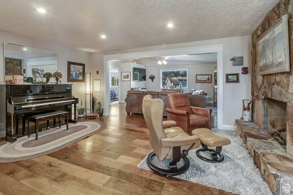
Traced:
<path id="1" fill-rule="evenodd" d="M 96 134 L 106 128 L 106 124 L 100 121 L 83 121 L 76 124 L 54 127 L 47 131 L 18 138 L 14 143 L 2 141 L 0 143 L 0 163 L 24 161 L 31 158 L 47 155 L 71 144 L 74 144 L 88 136 Z"/>

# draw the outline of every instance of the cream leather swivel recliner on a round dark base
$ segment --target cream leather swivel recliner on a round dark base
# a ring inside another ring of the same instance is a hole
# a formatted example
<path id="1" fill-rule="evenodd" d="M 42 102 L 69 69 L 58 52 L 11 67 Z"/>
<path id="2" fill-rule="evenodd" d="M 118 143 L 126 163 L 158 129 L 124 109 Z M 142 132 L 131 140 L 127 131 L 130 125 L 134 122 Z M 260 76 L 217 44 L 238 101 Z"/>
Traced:
<path id="1" fill-rule="evenodd" d="M 179 175 L 189 168 L 189 160 L 186 157 L 190 149 L 200 146 L 199 137 L 190 136 L 180 127 L 163 129 L 163 126 L 176 125 L 174 121 L 163 122 L 164 102 L 161 99 L 153 99 L 151 95 L 145 95 L 142 102 L 142 111 L 150 133 L 150 143 L 153 148 L 147 156 L 147 165 L 151 170 L 161 175 Z M 183 154 L 181 154 L 181 152 Z M 169 163 L 170 169 L 162 169 L 151 162 L 153 156 L 160 161 L 173 157 Z M 183 158 L 185 164 L 177 168 L 177 162 Z"/>

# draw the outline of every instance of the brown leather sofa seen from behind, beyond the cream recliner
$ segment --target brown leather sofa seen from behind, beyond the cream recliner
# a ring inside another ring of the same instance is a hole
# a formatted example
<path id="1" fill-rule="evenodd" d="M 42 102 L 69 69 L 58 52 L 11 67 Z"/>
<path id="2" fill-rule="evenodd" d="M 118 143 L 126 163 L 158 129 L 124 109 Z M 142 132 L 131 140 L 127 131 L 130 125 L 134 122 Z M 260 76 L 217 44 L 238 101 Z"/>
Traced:
<path id="1" fill-rule="evenodd" d="M 125 98 L 126 102 L 126 112 L 127 114 L 132 113 L 140 113 L 142 114 L 142 100 L 144 96 L 149 94 L 153 96 L 153 98 L 158 98 L 164 101 L 165 108 L 164 108 L 164 116 L 167 116 L 166 108 L 168 108 L 168 94 L 175 94 L 176 92 L 152 92 L 152 91 L 139 91 L 139 90 L 129 90 L 127 91 L 127 96 Z"/>

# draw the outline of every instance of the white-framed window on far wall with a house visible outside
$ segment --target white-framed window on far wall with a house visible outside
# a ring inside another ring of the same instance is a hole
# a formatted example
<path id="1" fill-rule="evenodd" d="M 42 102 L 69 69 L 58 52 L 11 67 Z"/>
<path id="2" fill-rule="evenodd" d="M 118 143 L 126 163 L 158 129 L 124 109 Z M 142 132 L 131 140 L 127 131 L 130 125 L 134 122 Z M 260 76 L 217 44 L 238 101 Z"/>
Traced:
<path id="1" fill-rule="evenodd" d="M 160 87 L 162 88 L 163 85 L 171 86 L 172 84 L 174 87 L 179 87 L 180 82 L 183 88 L 188 88 L 188 70 L 161 70 L 161 84 Z"/>

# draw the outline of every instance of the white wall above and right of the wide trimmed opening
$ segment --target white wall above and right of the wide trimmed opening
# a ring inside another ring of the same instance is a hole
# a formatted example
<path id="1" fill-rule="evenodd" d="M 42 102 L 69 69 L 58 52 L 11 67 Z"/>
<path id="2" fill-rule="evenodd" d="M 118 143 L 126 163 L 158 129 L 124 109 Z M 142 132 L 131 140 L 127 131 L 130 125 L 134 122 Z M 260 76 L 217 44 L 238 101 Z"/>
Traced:
<path id="1" fill-rule="evenodd" d="M 225 75 L 223 75 L 223 124 L 224 128 L 226 129 L 235 129 L 235 119 L 239 119 L 242 115 L 242 99 L 251 99 L 251 35 L 92 53 L 92 62 L 94 61 L 96 64 L 99 65 L 99 70 L 103 70 L 103 55 L 153 51 L 160 49 L 175 49 L 214 44 L 224 44 L 223 74 L 240 73 L 240 83 L 233 84 L 227 84 L 225 81 Z M 241 68 L 243 66 L 232 66 L 230 58 L 232 58 L 233 56 L 243 56 L 244 66 L 248 67 L 249 70 L 249 73 L 247 75 L 241 74 Z M 100 100 L 103 100 L 103 94 L 100 95 Z"/>

